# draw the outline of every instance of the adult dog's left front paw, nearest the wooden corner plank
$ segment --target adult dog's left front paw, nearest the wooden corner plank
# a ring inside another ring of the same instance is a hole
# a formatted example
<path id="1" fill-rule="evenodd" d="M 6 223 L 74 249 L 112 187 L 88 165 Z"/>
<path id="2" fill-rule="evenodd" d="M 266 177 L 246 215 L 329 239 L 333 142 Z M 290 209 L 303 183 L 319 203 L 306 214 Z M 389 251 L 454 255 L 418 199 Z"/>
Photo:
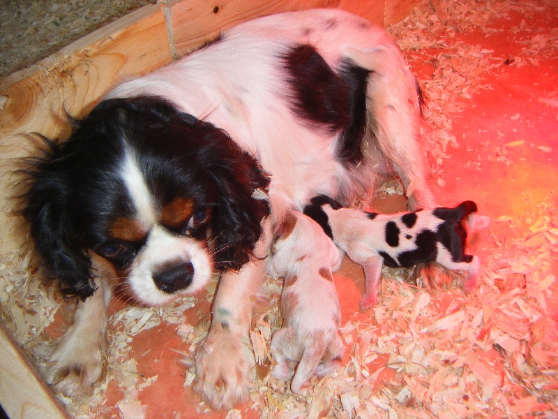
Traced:
<path id="1" fill-rule="evenodd" d="M 45 381 L 54 392 L 66 397 L 91 395 L 93 384 L 103 372 L 103 337 L 96 341 L 84 339 L 87 344 L 70 340 L 63 337 L 50 355 L 46 362 Z"/>

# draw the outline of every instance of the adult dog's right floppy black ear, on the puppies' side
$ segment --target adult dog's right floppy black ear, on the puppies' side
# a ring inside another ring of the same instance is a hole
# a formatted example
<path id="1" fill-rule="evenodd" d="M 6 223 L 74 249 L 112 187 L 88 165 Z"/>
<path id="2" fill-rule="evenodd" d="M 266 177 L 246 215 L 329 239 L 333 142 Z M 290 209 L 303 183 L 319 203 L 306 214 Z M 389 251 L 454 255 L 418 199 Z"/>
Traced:
<path id="1" fill-rule="evenodd" d="M 218 188 L 218 210 L 212 219 L 216 267 L 240 269 L 254 256 L 262 220 L 269 215 L 268 201 L 259 196 L 267 191 L 269 179 L 225 132 L 212 128 L 207 136 L 215 153 L 209 176 Z"/>

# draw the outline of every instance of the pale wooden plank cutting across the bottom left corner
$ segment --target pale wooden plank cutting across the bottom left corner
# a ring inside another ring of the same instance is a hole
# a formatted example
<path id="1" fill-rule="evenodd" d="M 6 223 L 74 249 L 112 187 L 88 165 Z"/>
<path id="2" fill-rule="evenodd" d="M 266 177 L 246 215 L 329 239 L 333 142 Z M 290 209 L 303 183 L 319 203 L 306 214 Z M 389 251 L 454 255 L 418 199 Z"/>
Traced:
<path id="1" fill-rule="evenodd" d="M 10 419 L 70 418 L 1 321 L 0 404 Z"/>

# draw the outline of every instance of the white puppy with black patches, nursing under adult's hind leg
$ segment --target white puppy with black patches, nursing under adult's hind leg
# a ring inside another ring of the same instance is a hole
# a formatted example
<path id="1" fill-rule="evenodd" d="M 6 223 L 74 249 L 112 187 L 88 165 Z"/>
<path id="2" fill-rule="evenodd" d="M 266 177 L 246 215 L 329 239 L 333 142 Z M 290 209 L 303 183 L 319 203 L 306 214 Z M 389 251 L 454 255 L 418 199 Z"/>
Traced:
<path id="1" fill-rule="evenodd" d="M 467 271 L 465 289 L 474 289 L 480 260 L 465 253 L 467 230 L 490 224 L 488 216 L 474 212 L 476 204 L 465 201 L 454 208 L 375 214 L 343 208 L 327 196 L 315 196 L 304 208 L 304 214 L 317 221 L 333 242 L 363 267 L 362 309 L 377 302 L 384 264 L 411 267 L 437 262 L 449 270 Z"/>

